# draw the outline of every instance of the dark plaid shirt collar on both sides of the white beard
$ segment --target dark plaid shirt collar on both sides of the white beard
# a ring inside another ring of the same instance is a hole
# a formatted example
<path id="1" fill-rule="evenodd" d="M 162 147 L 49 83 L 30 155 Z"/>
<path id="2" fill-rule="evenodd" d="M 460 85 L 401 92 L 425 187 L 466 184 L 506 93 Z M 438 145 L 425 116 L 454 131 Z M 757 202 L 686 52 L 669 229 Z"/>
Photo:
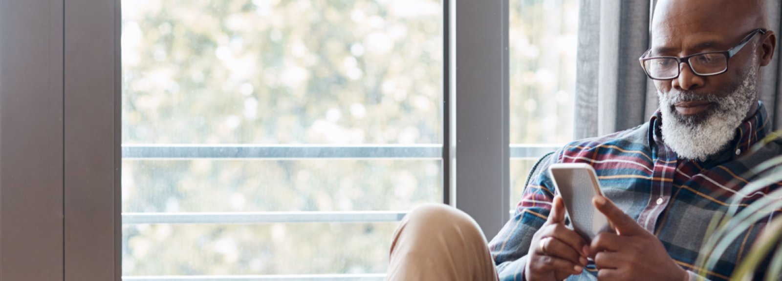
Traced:
<path id="1" fill-rule="evenodd" d="M 744 155 L 744 152 L 749 151 L 753 144 L 766 137 L 769 129 L 768 122 L 766 107 L 763 106 L 762 101 L 758 101 L 758 110 L 755 112 L 755 116 L 752 116 L 736 128 L 734 140 L 730 141 L 730 145 L 726 150 L 720 152 L 714 158 L 735 159 Z M 649 144 L 655 144 L 657 141 L 662 143 L 662 129 L 660 128 L 662 126 L 662 113 L 659 108 L 655 115 L 649 119 L 649 125 Z"/>

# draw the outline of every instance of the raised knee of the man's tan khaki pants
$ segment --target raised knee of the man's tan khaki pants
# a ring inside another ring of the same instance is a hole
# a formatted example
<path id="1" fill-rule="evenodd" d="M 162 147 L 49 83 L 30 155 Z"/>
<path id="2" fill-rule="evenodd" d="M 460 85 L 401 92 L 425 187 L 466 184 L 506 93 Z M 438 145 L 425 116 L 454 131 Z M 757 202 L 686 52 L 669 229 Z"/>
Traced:
<path id="1" fill-rule="evenodd" d="M 486 237 L 465 212 L 442 204 L 415 208 L 391 242 L 387 281 L 496 281 Z"/>

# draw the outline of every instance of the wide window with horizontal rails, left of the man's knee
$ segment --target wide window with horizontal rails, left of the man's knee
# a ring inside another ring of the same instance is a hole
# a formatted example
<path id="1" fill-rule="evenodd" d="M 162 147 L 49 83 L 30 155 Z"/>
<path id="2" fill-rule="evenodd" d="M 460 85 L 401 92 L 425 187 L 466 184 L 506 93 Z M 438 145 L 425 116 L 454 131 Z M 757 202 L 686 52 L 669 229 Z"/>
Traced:
<path id="1" fill-rule="evenodd" d="M 124 279 L 382 279 L 443 201 L 442 10 L 122 1 Z"/>

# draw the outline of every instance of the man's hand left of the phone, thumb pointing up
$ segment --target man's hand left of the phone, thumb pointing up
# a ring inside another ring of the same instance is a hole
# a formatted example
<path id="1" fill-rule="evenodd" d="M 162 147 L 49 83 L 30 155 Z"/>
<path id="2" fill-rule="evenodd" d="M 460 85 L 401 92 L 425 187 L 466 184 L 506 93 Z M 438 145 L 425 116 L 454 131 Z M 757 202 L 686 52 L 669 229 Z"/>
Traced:
<path id="1" fill-rule="evenodd" d="M 528 281 L 559 281 L 587 265 L 587 242 L 565 227 L 564 204 L 562 197 L 554 197 L 548 220 L 533 236 L 525 268 Z"/>

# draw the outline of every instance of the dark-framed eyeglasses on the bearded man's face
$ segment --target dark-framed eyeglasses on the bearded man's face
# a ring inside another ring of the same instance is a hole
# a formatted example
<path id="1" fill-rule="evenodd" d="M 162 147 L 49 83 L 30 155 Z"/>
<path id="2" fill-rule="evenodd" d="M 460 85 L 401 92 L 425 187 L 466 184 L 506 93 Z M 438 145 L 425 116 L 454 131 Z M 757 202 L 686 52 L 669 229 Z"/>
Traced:
<path id="1" fill-rule="evenodd" d="M 676 56 L 659 56 L 653 58 L 645 58 L 651 52 L 651 49 L 644 52 L 641 55 L 640 66 L 646 72 L 649 78 L 654 80 L 671 80 L 679 77 L 681 73 L 680 65 L 682 62 L 687 62 L 692 72 L 698 76 L 712 76 L 721 73 L 725 73 L 728 70 L 728 59 L 736 55 L 741 51 L 747 42 L 749 42 L 755 34 L 766 34 L 766 31 L 755 30 L 751 34 L 744 37 L 734 48 L 723 52 L 703 52 L 694 55 L 687 55 L 686 57 Z"/>

